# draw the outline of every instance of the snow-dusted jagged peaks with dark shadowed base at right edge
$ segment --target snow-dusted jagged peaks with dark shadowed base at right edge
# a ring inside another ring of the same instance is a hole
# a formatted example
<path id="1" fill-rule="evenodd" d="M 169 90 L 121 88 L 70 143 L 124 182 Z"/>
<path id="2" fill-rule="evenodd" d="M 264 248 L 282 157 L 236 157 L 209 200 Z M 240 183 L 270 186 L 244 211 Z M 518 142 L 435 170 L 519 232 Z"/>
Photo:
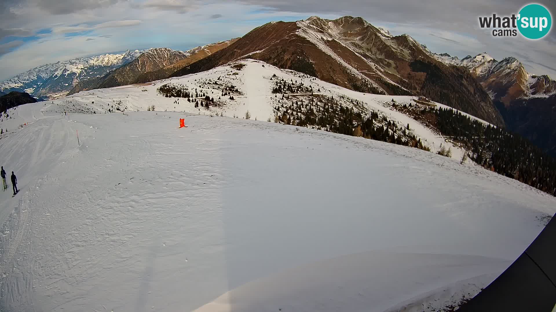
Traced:
<path id="1" fill-rule="evenodd" d="M 497 61 L 486 53 L 461 60 L 446 53 L 434 56 L 445 64 L 468 68 L 490 94 L 507 128 L 556 156 L 556 81 L 528 73 L 513 57 Z"/>

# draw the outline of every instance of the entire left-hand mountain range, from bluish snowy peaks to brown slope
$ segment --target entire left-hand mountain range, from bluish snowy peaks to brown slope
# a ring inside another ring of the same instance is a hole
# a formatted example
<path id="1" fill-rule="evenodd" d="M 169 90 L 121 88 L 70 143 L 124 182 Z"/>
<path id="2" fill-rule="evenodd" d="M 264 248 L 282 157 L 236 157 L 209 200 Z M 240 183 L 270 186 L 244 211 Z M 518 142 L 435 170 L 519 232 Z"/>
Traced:
<path id="1" fill-rule="evenodd" d="M 128 50 L 122 54 L 103 54 L 45 64 L 0 82 L 0 92 L 17 91 L 38 99 L 56 99 L 82 90 L 142 82 L 150 77 L 163 79 L 234 41 L 208 44 L 189 51 L 168 48 Z M 146 75 L 140 77 L 142 74 Z M 148 81 L 152 80 L 156 79 Z"/>

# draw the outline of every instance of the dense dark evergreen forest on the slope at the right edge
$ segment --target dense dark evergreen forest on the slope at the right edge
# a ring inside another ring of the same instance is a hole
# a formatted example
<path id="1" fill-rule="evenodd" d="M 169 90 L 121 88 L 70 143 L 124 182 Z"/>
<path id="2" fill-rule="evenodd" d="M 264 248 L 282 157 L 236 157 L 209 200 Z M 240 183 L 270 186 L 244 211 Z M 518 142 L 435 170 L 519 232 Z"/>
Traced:
<path id="1" fill-rule="evenodd" d="M 556 196 L 556 160 L 527 139 L 453 109 L 424 108 L 421 114 L 435 115 L 439 132 L 463 145 L 474 162 Z"/>

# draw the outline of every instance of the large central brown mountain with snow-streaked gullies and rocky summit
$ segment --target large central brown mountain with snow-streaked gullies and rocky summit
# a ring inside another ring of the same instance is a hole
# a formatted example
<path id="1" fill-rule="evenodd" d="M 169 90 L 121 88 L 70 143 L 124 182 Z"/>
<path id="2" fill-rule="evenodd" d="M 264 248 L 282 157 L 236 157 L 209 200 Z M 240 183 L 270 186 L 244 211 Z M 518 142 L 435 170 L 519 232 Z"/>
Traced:
<path id="1" fill-rule="evenodd" d="M 241 58 L 259 59 L 361 92 L 424 95 L 503 125 L 489 95 L 469 71 L 446 66 L 410 36 L 392 36 L 362 18 L 267 23 L 172 76 Z"/>

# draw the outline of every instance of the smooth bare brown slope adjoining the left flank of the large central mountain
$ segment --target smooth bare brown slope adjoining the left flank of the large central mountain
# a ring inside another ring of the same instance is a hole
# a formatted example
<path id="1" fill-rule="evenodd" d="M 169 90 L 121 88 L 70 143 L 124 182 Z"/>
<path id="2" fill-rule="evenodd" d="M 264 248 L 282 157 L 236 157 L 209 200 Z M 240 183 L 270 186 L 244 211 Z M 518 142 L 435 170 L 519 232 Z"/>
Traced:
<path id="1" fill-rule="evenodd" d="M 237 39 L 239 38 L 234 38 L 223 42 L 217 42 L 217 43 L 209 44 L 207 46 L 199 47 L 197 49 L 193 49 L 191 51 L 192 54 L 186 57 L 185 59 L 182 59 L 180 62 L 177 62 L 170 66 L 160 68 L 157 71 L 150 71 L 150 72 L 143 73 L 140 76 L 138 76 L 137 79 L 135 79 L 134 83 L 146 83 L 155 80 L 166 79 L 170 77 L 171 74 L 182 69 L 183 67 L 186 67 L 191 63 L 195 63 L 200 59 L 210 56 L 211 54 L 216 53 L 221 49 L 230 46 L 230 44 L 236 42 Z"/>

